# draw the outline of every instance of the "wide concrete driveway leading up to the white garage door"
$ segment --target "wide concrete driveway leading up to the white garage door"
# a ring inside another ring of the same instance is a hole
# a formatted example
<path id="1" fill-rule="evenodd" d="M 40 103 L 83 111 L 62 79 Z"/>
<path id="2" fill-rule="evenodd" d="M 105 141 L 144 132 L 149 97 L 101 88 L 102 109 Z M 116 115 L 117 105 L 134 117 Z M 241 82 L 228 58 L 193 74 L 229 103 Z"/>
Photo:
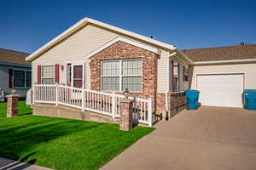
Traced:
<path id="1" fill-rule="evenodd" d="M 256 169 L 256 111 L 182 111 L 102 169 Z"/>

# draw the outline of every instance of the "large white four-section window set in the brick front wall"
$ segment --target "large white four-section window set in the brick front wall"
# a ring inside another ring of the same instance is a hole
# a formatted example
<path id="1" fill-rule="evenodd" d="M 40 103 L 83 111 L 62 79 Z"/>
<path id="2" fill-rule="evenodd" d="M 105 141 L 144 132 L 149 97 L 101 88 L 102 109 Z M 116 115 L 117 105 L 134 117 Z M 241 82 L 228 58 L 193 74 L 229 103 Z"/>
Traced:
<path id="1" fill-rule="evenodd" d="M 103 91 L 142 90 L 142 60 L 123 59 L 102 61 Z"/>

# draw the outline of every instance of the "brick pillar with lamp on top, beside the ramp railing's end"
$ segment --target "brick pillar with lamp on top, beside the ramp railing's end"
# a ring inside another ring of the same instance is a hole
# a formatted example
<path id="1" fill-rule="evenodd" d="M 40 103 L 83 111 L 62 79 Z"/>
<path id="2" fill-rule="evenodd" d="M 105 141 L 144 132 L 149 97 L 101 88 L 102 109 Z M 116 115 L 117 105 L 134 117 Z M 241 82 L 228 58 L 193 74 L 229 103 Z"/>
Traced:
<path id="1" fill-rule="evenodd" d="M 120 122 L 119 129 L 129 131 L 132 128 L 132 105 L 134 100 L 120 100 Z"/>

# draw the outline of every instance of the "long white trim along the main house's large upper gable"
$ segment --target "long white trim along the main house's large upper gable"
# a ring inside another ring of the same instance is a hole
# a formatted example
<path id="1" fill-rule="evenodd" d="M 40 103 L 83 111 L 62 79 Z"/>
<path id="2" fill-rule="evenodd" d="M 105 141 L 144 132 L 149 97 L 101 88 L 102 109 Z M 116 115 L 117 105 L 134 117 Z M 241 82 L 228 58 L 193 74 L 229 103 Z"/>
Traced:
<path id="1" fill-rule="evenodd" d="M 127 36 L 135 37 L 137 39 L 143 40 L 145 42 L 152 43 L 154 45 L 157 45 L 157 46 L 160 46 L 160 47 L 163 47 L 163 48 L 168 48 L 168 49 L 171 49 L 171 50 L 176 49 L 176 47 L 172 46 L 171 44 L 168 44 L 168 43 L 165 43 L 165 42 L 160 42 L 160 41 L 154 40 L 150 37 L 144 37 L 144 36 L 139 35 L 137 33 L 134 33 L 134 32 L 131 32 L 131 31 L 126 31 L 126 30 L 118 28 L 116 26 L 110 26 L 106 23 L 103 23 L 103 22 L 100 22 L 100 21 L 97 21 L 97 20 L 92 20 L 90 18 L 84 18 L 84 19 L 80 20 L 79 22 L 77 22 L 75 25 L 68 28 L 67 31 L 62 32 L 59 36 L 55 37 L 51 41 L 44 44 L 44 46 L 42 46 L 41 48 L 38 48 L 38 50 L 36 50 L 34 53 L 27 56 L 26 61 L 31 61 L 32 59 L 35 59 L 39 54 L 44 53 L 46 50 L 51 48 L 53 45 L 55 45 L 58 42 L 61 42 L 61 40 L 70 36 L 71 34 L 73 34 L 74 31 L 79 30 L 79 28 L 86 25 L 87 23 L 92 23 L 92 24 L 95 24 L 97 26 L 102 26 L 102 27 L 105 27 L 109 30 L 117 31 L 117 32 L 120 32 L 120 33 L 125 34 Z"/>

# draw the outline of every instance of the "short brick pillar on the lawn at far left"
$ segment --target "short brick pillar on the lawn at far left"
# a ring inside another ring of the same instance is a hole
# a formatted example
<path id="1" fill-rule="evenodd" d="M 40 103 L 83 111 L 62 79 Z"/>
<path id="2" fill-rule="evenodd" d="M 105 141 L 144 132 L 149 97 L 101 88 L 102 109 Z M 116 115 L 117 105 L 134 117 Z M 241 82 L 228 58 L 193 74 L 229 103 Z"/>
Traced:
<path id="1" fill-rule="evenodd" d="M 10 94 L 7 95 L 7 117 L 18 116 L 18 101 L 20 95 Z"/>

